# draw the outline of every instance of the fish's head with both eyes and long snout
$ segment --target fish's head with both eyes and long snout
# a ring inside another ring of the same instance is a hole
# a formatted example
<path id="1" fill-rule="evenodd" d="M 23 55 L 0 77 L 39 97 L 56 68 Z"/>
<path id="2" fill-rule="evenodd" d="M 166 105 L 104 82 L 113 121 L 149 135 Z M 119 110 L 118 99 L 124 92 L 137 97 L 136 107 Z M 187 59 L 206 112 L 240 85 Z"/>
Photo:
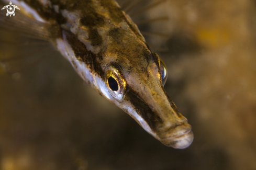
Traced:
<path id="1" fill-rule="evenodd" d="M 177 149 L 189 146 L 191 125 L 164 90 L 167 68 L 158 54 L 146 43 L 132 41 L 115 44 L 115 50 L 106 55 L 105 84 L 110 100 L 163 144 Z"/>

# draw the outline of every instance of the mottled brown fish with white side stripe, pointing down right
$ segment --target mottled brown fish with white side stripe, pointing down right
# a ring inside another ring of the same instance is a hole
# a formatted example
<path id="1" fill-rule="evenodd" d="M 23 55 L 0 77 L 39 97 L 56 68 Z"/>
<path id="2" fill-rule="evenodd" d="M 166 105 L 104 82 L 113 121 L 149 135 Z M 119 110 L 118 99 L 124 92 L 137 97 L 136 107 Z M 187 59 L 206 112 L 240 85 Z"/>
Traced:
<path id="1" fill-rule="evenodd" d="M 53 44 L 85 82 L 164 145 L 175 149 L 191 145 L 192 127 L 163 87 L 166 65 L 116 1 L 12 3 L 25 17 L 0 16 L 3 27 L 10 31 L 19 27 L 25 36 Z"/>

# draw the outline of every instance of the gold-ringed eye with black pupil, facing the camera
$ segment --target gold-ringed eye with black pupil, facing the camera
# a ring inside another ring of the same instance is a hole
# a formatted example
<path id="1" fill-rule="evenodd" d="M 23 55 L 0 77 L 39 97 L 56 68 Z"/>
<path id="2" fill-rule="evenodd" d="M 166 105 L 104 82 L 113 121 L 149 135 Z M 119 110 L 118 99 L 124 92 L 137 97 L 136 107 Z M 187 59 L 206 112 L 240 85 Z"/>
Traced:
<path id="1" fill-rule="evenodd" d="M 110 95 L 117 100 L 123 100 L 126 92 L 126 80 L 121 67 L 117 63 L 110 63 L 105 70 L 105 83 Z"/>

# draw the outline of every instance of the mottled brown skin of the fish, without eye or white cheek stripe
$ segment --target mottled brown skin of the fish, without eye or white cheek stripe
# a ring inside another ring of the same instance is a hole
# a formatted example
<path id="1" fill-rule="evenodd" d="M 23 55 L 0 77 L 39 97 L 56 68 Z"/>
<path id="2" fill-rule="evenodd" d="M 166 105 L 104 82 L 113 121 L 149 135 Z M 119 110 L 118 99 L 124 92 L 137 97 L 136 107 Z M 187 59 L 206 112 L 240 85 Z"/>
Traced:
<path id="1" fill-rule="evenodd" d="M 66 37 L 75 58 L 85 63 L 92 75 L 101 77 L 107 84 L 105 72 L 108 65 L 118 65 L 122 76 L 116 79 L 124 79 L 127 84 L 119 84 L 119 88 L 124 88 L 121 99 L 110 101 L 126 111 L 142 127 L 135 115 L 143 118 L 154 133 L 151 134 L 163 144 L 185 148 L 192 142 L 191 126 L 162 86 L 159 56 L 150 50 L 137 26 L 115 1 L 52 0 L 51 6 L 43 6 L 35 0 L 25 2 L 35 8 L 42 18 L 59 26 L 58 35 Z M 53 9 L 53 5 L 59 7 L 59 13 Z M 63 10 L 69 14 L 79 14 L 78 24 L 72 24 L 63 15 Z M 78 28 L 75 31 L 74 26 Z M 97 86 L 91 86 L 102 94 Z M 186 137 L 189 144 L 181 145 L 177 139 L 182 137 Z"/>

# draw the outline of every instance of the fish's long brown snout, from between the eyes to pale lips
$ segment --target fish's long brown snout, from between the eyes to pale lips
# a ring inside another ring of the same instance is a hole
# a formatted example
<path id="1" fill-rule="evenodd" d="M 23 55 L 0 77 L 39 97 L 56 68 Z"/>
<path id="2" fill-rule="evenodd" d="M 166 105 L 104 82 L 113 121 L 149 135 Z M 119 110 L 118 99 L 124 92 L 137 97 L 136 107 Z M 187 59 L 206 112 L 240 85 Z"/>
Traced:
<path id="1" fill-rule="evenodd" d="M 129 86 L 120 107 L 163 144 L 187 148 L 194 138 L 192 127 L 165 92 L 155 70 L 152 64 L 146 75 L 126 75 Z"/>

